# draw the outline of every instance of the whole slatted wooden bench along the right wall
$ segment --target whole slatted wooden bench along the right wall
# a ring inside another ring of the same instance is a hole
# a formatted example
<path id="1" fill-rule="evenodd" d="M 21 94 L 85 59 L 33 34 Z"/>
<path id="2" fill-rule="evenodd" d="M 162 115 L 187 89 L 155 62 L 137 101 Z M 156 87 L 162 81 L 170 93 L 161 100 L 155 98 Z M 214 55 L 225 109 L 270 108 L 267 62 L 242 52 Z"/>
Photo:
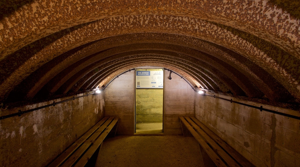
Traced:
<path id="1" fill-rule="evenodd" d="M 195 117 L 181 116 L 179 122 L 183 135 L 199 142 L 203 166 L 254 166 Z"/>

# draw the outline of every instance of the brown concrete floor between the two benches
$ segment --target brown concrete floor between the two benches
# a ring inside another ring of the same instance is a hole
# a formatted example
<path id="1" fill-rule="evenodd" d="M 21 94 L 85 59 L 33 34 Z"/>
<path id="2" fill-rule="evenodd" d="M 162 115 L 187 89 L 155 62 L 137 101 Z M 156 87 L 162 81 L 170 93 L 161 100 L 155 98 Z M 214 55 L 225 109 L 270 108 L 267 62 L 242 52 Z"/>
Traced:
<path id="1" fill-rule="evenodd" d="M 198 143 L 183 136 L 116 136 L 104 140 L 96 166 L 200 166 Z"/>

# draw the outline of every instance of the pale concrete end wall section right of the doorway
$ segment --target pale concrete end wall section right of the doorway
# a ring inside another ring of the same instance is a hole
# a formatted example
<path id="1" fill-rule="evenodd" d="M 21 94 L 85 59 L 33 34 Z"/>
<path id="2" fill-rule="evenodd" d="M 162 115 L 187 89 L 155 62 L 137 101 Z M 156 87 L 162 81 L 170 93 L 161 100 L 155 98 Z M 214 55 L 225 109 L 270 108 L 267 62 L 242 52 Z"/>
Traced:
<path id="1" fill-rule="evenodd" d="M 194 116 L 194 90 L 178 75 L 172 73 L 172 80 L 167 79 L 170 72 L 164 73 L 164 134 L 179 135 L 182 130 L 179 116 Z"/>

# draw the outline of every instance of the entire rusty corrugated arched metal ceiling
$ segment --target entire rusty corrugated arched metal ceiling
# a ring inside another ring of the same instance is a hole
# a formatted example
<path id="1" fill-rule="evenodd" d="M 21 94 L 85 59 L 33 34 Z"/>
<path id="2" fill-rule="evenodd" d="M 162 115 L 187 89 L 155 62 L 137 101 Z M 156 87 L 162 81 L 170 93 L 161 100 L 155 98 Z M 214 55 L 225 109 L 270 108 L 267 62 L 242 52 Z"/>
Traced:
<path id="1" fill-rule="evenodd" d="M 0 102 L 105 86 L 138 66 L 194 86 L 300 102 L 300 2 L 0 1 Z"/>

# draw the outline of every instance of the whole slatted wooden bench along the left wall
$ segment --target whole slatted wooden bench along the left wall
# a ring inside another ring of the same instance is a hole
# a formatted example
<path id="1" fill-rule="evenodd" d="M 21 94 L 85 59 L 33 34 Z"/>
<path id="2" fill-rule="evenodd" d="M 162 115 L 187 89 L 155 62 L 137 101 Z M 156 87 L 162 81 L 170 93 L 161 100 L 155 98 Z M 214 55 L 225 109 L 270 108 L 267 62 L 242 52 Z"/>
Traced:
<path id="1" fill-rule="evenodd" d="M 94 127 L 88 130 L 73 145 L 57 157 L 49 167 L 53 166 L 85 166 L 91 157 L 96 161 L 98 152 L 102 146 L 104 138 L 112 131 L 114 136 L 118 127 L 119 118 L 105 117 Z M 116 126 L 115 126 L 116 125 Z M 96 154 L 94 154 L 96 153 Z M 92 162 L 95 163 L 95 162 Z M 95 164 L 93 164 L 95 166 Z M 92 165 L 88 165 L 92 166 Z"/>

